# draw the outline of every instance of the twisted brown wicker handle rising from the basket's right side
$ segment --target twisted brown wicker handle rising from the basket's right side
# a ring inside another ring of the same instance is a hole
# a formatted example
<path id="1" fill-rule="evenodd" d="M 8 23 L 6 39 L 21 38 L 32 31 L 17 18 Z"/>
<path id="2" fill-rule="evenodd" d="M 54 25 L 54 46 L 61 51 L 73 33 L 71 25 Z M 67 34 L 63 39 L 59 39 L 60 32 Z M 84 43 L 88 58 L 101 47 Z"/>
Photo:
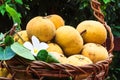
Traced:
<path id="1" fill-rule="evenodd" d="M 100 9 L 100 2 L 98 0 L 91 0 L 91 8 L 93 9 L 93 14 L 94 16 L 98 19 L 99 22 L 101 22 L 105 28 L 107 29 L 109 33 L 109 38 L 110 38 L 110 48 L 108 50 L 109 53 L 112 53 L 114 49 L 114 37 L 111 31 L 111 28 L 107 25 L 107 23 L 104 20 L 104 15 Z"/>

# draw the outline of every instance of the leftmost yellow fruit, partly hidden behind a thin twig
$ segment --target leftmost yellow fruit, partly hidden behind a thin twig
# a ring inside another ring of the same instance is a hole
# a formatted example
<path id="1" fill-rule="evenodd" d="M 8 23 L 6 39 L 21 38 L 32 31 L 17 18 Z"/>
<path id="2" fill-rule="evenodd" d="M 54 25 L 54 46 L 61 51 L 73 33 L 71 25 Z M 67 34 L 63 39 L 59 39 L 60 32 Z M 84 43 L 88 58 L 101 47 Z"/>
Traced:
<path id="1" fill-rule="evenodd" d="M 14 40 L 20 44 L 23 44 L 25 41 L 29 41 L 26 30 L 17 32 L 13 37 Z"/>

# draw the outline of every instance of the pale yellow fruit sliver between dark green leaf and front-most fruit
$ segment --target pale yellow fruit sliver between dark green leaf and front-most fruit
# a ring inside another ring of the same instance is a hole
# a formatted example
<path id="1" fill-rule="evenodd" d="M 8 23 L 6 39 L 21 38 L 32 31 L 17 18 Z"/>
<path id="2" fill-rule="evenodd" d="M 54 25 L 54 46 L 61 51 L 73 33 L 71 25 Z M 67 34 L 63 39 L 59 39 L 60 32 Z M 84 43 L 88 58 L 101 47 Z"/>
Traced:
<path id="1" fill-rule="evenodd" d="M 55 58 L 61 63 L 61 64 L 66 64 L 67 63 L 67 57 L 64 56 L 63 54 L 60 54 L 58 52 L 50 52 Z"/>

